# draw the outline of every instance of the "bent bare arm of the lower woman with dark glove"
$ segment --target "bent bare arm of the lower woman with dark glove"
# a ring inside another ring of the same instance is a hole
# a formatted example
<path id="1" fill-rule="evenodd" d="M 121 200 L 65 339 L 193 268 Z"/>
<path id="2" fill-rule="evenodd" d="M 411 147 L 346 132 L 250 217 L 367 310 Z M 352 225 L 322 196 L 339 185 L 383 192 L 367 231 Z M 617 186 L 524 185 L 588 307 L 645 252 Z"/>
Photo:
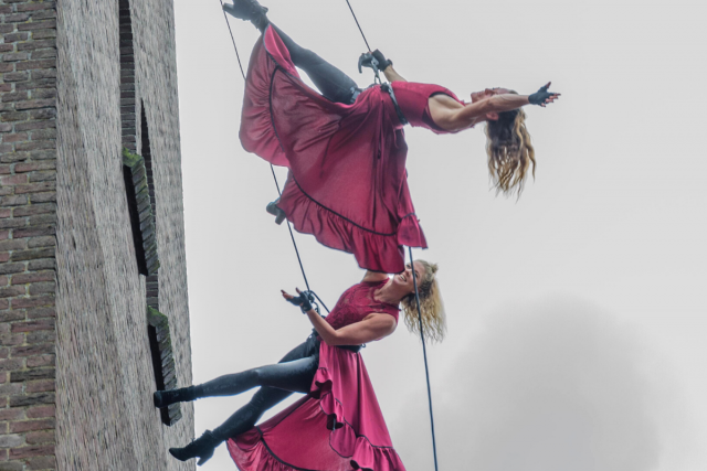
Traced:
<path id="1" fill-rule="evenodd" d="M 297 290 L 299 292 L 299 290 Z M 295 298 L 285 291 L 282 291 L 283 298 L 287 301 L 296 303 L 300 297 Z M 304 302 L 303 302 L 304 304 Z M 306 314 L 314 325 L 315 330 L 327 343 L 327 345 L 361 345 L 373 340 L 382 339 L 394 332 L 398 323 L 390 314 L 369 314 L 360 322 L 346 325 L 339 330 L 335 330 L 327 321 L 319 315 L 317 311 L 308 307 Z M 303 310 L 306 308 L 303 308 Z"/>

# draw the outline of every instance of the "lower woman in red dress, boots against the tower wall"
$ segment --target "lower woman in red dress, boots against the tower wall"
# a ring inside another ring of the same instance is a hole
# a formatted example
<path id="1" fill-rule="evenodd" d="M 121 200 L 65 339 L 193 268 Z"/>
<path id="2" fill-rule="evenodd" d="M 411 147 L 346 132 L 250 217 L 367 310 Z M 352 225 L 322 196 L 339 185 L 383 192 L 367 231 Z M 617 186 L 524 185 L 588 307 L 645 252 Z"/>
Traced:
<path id="1" fill-rule="evenodd" d="M 437 267 L 415 260 L 414 270 L 425 336 L 442 340 L 445 318 Z M 241 471 L 404 471 L 358 352 L 361 344 L 393 333 L 399 303 L 409 329 L 420 332 L 412 267 L 391 278 L 367 272 L 360 283 L 341 295 L 326 318 L 312 308 L 306 292 L 293 297 L 283 291 L 283 297 L 302 307 L 315 333 L 281 363 L 155 393 L 155 406 L 167 407 L 261 387 L 221 426 L 170 453 L 181 461 L 200 458 L 203 464 L 228 440 Z M 307 395 L 255 427 L 265 410 L 293 392 Z"/>

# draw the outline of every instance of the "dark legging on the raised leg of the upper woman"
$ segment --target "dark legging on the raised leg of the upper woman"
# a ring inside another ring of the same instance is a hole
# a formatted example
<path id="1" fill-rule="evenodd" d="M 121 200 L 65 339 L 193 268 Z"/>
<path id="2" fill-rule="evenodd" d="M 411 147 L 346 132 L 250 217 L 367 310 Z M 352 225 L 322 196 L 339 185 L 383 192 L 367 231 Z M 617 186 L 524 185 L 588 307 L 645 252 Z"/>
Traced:
<path id="1" fill-rule="evenodd" d="M 356 97 L 361 89 L 356 85 L 356 82 L 354 82 L 351 77 L 326 62 L 324 58 L 319 57 L 314 52 L 302 47 L 279 28 L 272 23 L 271 28 L 274 28 L 275 31 L 277 31 L 277 34 L 282 38 L 285 46 L 287 46 L 292 62 L 307 73 L 309 78 L 312 78 L 312 82 L 314 82 L 325 98 L 335 103 L 342 103 L 345 105 L 350 105 L 356 100 Z"/>

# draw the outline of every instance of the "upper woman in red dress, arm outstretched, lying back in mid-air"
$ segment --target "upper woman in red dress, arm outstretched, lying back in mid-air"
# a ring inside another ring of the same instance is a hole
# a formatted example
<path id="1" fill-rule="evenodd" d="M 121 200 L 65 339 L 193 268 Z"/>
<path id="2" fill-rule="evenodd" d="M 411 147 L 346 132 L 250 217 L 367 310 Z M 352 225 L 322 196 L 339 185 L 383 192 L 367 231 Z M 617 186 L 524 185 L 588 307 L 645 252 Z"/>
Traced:
<path id="1" fill-rule="evenodd" d="M 245 150 L 289 169 L 276 211 L 298 232 L 352 253 L 360 267 L 401 272 L 402 246 L 426 247 L 408 190 L 403 122 L 436 133 L 486 122 L 488 168 L 500 191 L 519 192 L 535 169 L 520 108 L 552 103 L 558 94 L 549 84 L 529 96 L 487 88 L 467 104 L 442 86 L 405 82 L 377 52 L 391 84 L 361 90 L 271 24 L 256 0 L 234 0 L 224 10 L 263 32 L 249 65 L 240 139 Z"/>

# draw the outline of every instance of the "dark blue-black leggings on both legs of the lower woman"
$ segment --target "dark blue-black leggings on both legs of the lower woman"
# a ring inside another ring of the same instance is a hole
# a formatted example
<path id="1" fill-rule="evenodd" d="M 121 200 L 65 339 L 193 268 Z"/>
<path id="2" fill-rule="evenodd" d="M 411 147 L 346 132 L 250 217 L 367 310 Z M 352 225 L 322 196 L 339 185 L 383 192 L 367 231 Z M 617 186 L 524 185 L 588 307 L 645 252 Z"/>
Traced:
<path id="1" fill-rule="evenodd" d="M 319 367 L 319 340 L 310 335 L 279 363 L 220 376 L 197 386 L 197 397 L 231 396 L 262 386 L 253 398 L 213 430 L 221 441 L 251 429 L 265 410 L 292 393 L 308 393 Z"/>

